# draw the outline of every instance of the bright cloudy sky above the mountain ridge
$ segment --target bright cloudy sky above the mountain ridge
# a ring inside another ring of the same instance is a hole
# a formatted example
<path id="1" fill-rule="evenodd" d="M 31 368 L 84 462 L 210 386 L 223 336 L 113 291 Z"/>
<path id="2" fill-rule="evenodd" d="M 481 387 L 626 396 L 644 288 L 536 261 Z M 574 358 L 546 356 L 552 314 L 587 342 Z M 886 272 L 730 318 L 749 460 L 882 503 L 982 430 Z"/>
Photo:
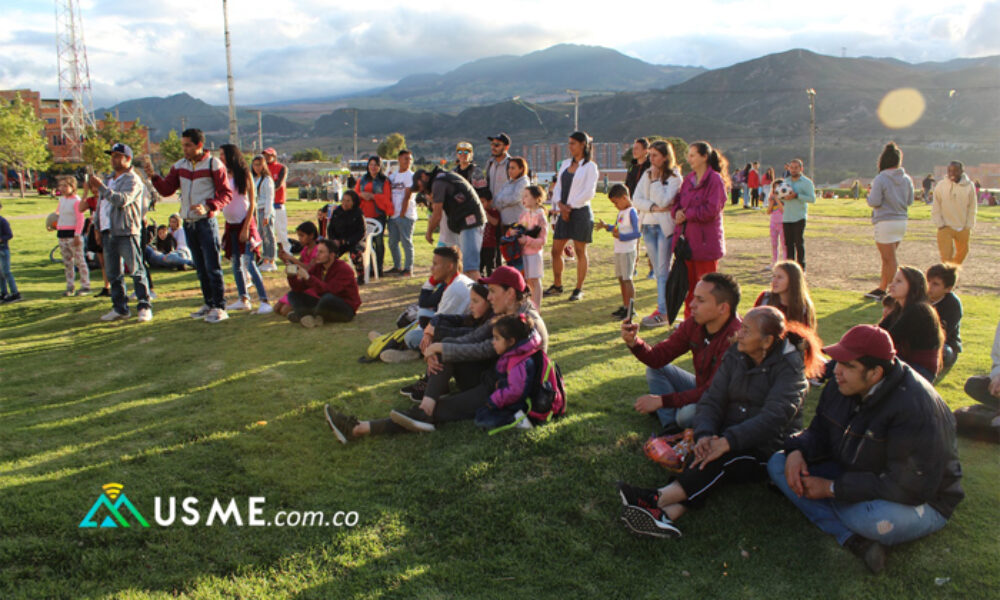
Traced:
<path id="1" fill-rule="evenodd" d="M 226 102 L 221 0 L 78 3 L 95 108 L 182 91 Z M 0 0 L 0 89 L 58 95 L 54 6 Z M 792 48 L 914 63 L 988 56 L 1000 54 L 1000 0 L 229 0 L 229 28 L 236 102 L 253 105 L 391 85 L 559 43 L 707 68 Z"/>

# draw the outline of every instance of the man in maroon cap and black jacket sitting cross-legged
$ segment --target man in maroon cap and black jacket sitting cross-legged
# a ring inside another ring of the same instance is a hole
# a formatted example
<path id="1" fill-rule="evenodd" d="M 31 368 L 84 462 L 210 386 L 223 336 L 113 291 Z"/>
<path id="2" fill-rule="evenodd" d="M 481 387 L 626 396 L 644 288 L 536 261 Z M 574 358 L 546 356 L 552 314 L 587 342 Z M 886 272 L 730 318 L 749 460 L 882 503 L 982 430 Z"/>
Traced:
<path id="1" fill-rule="evenodd" d="M 955 419 L 885 330 L 852 327 L 823 352 L 836 380 L 767 470 L 806 518 L 878 573 L 886 546 L 941 529 L 965 496 Z"/>

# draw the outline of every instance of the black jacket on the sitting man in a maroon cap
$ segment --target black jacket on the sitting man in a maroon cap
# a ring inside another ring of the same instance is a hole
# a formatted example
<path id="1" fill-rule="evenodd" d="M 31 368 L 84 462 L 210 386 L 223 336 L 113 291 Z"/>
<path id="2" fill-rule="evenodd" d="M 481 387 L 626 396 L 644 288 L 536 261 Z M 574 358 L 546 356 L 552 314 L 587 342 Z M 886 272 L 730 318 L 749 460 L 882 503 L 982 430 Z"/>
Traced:
<path id="1" fill-rule="evenodd" d="M 834 494 L 843 502 L 928 503 L 947 518 L 965 497 L 955 418 L 934 387 L 898 359 L 864 399 L 828 383 L 812 423 L 785 450 L 800 450 L 809 463 L 837 462 L 844 472 Z"/>

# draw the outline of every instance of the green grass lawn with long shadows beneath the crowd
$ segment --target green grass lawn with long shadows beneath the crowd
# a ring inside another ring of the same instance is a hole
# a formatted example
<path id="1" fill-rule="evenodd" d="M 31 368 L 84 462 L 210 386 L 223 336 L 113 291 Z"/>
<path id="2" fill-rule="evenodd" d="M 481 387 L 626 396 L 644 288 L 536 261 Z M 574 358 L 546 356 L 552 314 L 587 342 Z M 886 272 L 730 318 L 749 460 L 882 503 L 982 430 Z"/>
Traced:
<path id="1" fill-rule="evenodd" d="M 192 271 L 154 273 L 152 323 L 107 325 L 97 322 L 109 309 L 106 299 L 60 297 L 62 267 L 48 260 L 56 240 L 43 226 L 53 201 L 3 203 L 25 301 L 0 307 L 2 598 L 1000 594 L 997 447 L 965 440 L 965 501 L 944 530 L 894 549 L 878 577 L 763 485 L 718 493 L 680 521 L 681 539 L 628 534 L 614 482 L 653 486 L 665 483 L 667 472 L 642 455 L 655 429 L 631 408 L 645 393 L 643 368 L 608 317 L 620 304 L 610 235 L 595 234 L 583 301 L 543 306 L 551 353 L 567 383 L 566 419 L 520 435 L 488 437 L 458 423 L 341 446 L 323 419 L 324 403 L 361 418 L 409 405 L 397 390 L 422 363 L 361 365 L 357 358 L 366 333 L 388 330 L 414 301 L 430 261 L 420 235 L 418 277 L 363 288 L 362 312 L 344 326 L 305 330 L 246 314 L 218 325 L 193 322 L 187 314 L 201 300 Z M 820 201 L 807 248 L 823 241 L 837 251 L 811 260 L 850 262 L 874 252 L 861 204 Z M 595 206 L 611 218 L 603 196 Z M 290 202 L 289 222 L 312 218 L 317 207 Z M 153 216 L 165 222 L 172 208 L 165 204 Z M 914 217 L 927 212 L 919 207 Z M 997 215 L 982 221 L 995 224 Z M 857 235 L 838 234 L 837 224 Z M 745 312 L 768 282 L 762 267 L 769 257 L 753 250 L 764 247 L 767 225 L 760 213 L 727 207 L 726 228 L 731 258 L 723 269 L 743 284 Z M 986 268 L 995 256 L 980 252 L 970 264 Z M 871 278 L 870 268 L 858 269 Z M 548 264 L 546 271 L 550 279 Z M 280 293 L 283 275 L 266 277 Z M 827 341 L 878 320 L 879 307 L 859 294 L 870 286 L 832 289 L 817 277 L 811 270 Z M 226 281 L 232 297 L 228 269 Z M 637 287 L 645 314 L 655 304 L 654 286 L 640 280 Z M 939 386 L 953 408 L 970 402 L 965 379 L 989 368 L 998 317 L 994 294 L 962 300 L 966 351 Z M 656 341 L 665 332 L 647 333 Z M 690 360 L 681 366 L 690 368 Z M 817 398 L 810 394 L 807 417 Z M 108 482 L 124 484 L 151 527 L 134 519 L 128 529 L 78 527 Z M 157 525 L 157 496 L 197 497 L 202 523 Z M 246 518 L 251 496 L 266 497 L 265 519 L 297 510 L 357 511 L 360 520 L 344 528 L 203 525 L 213 498 L 236 498 Z"/>

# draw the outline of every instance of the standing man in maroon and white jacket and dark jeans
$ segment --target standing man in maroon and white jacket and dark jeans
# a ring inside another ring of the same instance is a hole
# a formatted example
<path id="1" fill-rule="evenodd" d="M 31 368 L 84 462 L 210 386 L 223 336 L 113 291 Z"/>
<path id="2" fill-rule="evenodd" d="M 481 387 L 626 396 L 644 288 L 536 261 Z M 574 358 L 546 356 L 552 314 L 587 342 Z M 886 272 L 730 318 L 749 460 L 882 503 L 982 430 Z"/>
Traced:
<path id="1" fill-rule="evenodd" d="M 181 217 L 201 283 L 204 305 L 191 313 L 195 319 L 218 323 L 229 318 L 226 314 L 225 282 L 222 279 L 222 260 L 219 257 L 219 225 L 215 213 L 229 204 L 233 191 L 229 187 L 226 166 L 205 150 L 205 134 L 200 129 L 186 129 L 181 134 L 184 158 L 178 160 L 166 177 L 153 171 L 146 157 L 145 170 L 156 191 L 171 196 L 181 194 Z"/>

